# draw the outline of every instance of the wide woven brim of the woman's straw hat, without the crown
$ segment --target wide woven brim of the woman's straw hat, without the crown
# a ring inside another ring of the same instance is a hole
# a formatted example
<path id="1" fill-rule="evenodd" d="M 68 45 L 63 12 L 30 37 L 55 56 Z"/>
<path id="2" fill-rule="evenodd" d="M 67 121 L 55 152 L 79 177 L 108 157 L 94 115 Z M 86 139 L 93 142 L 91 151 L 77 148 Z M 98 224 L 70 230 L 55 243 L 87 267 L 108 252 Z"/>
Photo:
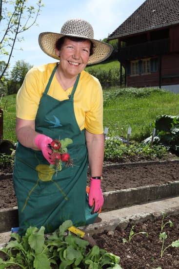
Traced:
<path id="1" fill-rule="evenodd" d="M 43 32 L 40 33 L 39 35 L 39 45 L 40 48 L 43 50 L 44 53 L 46 53 L 48 56 L 59 60 L 59 57 L 56 54 L 56 42 L 58 39 L 61 37 L 66 36 L 66 37 L 77 37 L 77 38 L 84 38 L 76 35 L 62 35 L 59 33 L 52 33 L 52 32 Z M 88 38 L 85 38 L 88 39 Z M 88 60 L 88 65 L 92 64 L 98 64 L 104 60 L 106 60 L 112 53 L 113 51 L 113 46 L 102 42 L 98 41 L 95 39 L 88 39 L 93 43 L 93 54 L 89 57 Z"/>

